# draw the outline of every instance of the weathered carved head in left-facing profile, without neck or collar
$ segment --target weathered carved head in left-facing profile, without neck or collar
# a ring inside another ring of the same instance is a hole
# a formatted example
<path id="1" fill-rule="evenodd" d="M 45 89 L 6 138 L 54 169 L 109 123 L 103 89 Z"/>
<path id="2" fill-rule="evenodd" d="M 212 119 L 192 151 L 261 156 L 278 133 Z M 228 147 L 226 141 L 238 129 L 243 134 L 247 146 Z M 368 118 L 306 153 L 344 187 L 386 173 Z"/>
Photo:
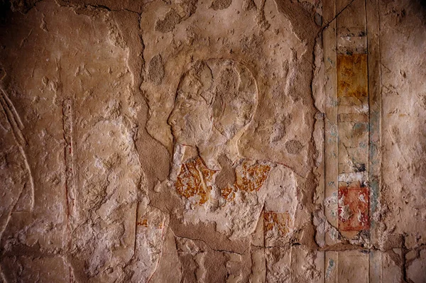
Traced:
<path id="1" fill-rule="evenodd" d="M 175 142 L 198 146 L 233 138 L 253 116 L 257 88 L 251 72 L 231 60 L 195 62 L 182 75 L 168 118 Z"/>

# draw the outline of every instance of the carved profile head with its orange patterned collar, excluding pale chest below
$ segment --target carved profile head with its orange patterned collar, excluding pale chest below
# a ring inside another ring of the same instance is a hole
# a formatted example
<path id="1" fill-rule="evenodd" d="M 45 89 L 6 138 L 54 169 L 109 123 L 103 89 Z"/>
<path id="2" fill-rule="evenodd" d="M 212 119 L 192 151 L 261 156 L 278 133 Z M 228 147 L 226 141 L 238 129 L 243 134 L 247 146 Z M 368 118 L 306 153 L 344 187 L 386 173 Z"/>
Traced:
<path id="1" fill-rule="evenodd" d="M 236 154 L 236 141 L 251 121 L 256 100 L 257 87 L 251 72 L 233 60 L 196 62 L 182 76 L 168 122 L 175 142 L 197 148 L 201 157 L 182 162 L 175 181 L 180 196 L 193 204 L 205 204 L 215 172 L 222 169 L 234 170 L 235 175 L 233 184 L 217 187 L 227 201 L 234 199 L 238 190 L 261 189 L 271 167 Z M 219 155 L 231 160 L 231 168 L 222 168 Z M 204 159 L 218 170 L 209 169 Z"/>

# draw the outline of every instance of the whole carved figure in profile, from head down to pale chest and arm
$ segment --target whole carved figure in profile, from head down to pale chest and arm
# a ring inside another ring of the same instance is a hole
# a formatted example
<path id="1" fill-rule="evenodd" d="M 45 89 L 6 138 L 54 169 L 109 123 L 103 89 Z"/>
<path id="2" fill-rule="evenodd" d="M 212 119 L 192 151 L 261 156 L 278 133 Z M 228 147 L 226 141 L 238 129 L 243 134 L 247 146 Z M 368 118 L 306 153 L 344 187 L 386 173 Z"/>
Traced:
<path id="1" fill-rule="evenodd" d="M 239 238 L 254 230 L 266 204 L 276 211 L 266 213 L 272 221 L 266 231 L 275 233 L 276 226 L 275 238 L 290 231 L 297 201 L 293 178 L 286 183 L 290 175 L 282 165 L 241 156 L 238 150 L 257 92 L 250 70 L 234 60 L 195 62 L 182 74 L 168 124 L 174 140 L 170 180 L 185 203 L 180 208 L 185 223 L 214 222 L 217 231 Z"/>

